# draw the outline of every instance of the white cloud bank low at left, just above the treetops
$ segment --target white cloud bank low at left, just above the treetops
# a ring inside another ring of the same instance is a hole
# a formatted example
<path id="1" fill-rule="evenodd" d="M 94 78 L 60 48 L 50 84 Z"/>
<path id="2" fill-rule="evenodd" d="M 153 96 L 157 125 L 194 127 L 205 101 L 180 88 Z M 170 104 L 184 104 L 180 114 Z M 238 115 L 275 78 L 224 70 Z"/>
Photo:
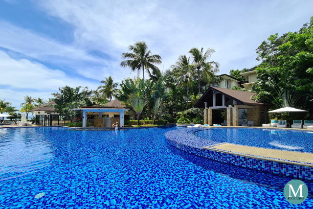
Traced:
<path id="1" fill-rule="evenodd" d="M 0 98 L 5 98 L 13 105 L 19 106 L 23 96 L 51 98 L 51 93 L 63 86 L 88 86 L 95 89 L 97 82 L 68 76 L 61 70 L 52 70 L 42 64 L 26 59 L 15 60 L 0 51 L 0 85 L 7 88 L 0 90 Z"/>

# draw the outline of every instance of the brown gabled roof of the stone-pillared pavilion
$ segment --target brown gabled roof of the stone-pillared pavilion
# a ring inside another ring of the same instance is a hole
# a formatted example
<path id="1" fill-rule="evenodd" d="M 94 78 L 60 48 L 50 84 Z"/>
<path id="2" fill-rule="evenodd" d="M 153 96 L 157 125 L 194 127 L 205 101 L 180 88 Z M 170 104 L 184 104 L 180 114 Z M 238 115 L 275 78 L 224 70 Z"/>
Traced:
<path id="1" fill-rule="evenodd" d="M 199 103 L 202 102 L 204 97 L 206 97 L 206 94 L 208 94 L 209 92 L 212 92 L 212 91 L 225 94 L 225 96 L 228 96 L 228 97 L 233 98 L 239 102 L 242 102 L 244 105 L 255 105 L 255 106 L 267 105 L 267 104 L 262 103 L 262 102 L 257 102 L 251 98 L 252 96 L 256 95 L 256 93 L 231 90 L 231 89 L 223 89 L 223 88 L 210 86 L 206 90 L 206 92 L 201 96 L 199 101 L 195 104 L 195 107 L 201 106 Z"/>

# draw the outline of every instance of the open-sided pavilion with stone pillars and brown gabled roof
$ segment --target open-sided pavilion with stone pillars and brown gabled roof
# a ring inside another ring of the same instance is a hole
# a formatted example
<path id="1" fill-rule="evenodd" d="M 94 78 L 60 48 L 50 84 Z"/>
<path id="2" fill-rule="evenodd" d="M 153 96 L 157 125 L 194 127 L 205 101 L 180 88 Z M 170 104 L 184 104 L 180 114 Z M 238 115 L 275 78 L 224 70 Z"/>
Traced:
<path id="1" fill-rule="evenodd" d="M 227 121 L 227 126 L 239 126 L 254 121 L 259 126 L 268 121 L 268 105 L 253 100 L 256 93 L 209 87 L 195 104 L 203 108 L 204 124 Z"/>

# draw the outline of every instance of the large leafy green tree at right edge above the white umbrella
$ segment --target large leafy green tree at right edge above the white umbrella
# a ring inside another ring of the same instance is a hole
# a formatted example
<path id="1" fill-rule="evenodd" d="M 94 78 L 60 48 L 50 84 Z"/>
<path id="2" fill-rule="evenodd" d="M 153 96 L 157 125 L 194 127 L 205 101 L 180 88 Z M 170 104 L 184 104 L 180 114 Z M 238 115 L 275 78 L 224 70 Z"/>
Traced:
<path id="1" fill-rule="evenodd" d="M 296 95 L 293 105 L 313 116 L 313 17 L 297 32 L 273 34 L 256 49 L 259 81 L 253 86 L 258 101 L 284 106 Z M 288 94 L 288 95 L 287 95 Z M 277 98 L 277 99 L 273 99 Z M 310 116 L 309 116 L 310 117 Z"/>

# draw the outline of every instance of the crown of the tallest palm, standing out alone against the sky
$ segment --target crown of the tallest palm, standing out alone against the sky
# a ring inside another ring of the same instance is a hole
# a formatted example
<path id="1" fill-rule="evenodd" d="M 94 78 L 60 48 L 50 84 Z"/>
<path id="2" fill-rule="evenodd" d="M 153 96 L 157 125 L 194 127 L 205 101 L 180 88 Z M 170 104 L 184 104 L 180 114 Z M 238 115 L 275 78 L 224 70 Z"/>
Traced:
<path id="1" fill-rule="evenodd" d="M 138 70 L 138 75 L 139 70 L 142 69 L 143 80 L 145 80 L 144 70 L 146 69 L 150 77 L 156 79 L 156 75 L 160 74 L 160 70 L 154 64 L 159 65 L 162 63 L 161 56 L 151 55 L 151 51 L 148 50 L 148 46 L 143 41 L 135 43 L 134 46 L 129 46 L 129 50 L 134 53 L 122 53 L 122 58 L 129 60 L 122 61 L 121 66 L 130 67 L 132 71 Z M 152 73 L 149 69 L 152 70 Z"/>

